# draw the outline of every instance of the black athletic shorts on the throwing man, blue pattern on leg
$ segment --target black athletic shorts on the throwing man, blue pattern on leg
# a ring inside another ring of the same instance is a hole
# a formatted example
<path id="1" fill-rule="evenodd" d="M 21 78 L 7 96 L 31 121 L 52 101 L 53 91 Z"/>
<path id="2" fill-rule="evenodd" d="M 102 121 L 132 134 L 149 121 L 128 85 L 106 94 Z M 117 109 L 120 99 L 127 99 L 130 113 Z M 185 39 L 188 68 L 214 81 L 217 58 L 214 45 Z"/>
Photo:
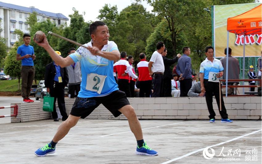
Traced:
<path id="1" fill-rule="evenodd" d="M 77 97 L 70 114 L 76 117 L 86 118 L 100 104 L 103 104 L 115 117 L 121 114 L 121 112 L 118 111 L 120 108 L 130 105 L 125 92 L 116 90 L 103 97 Z"/>

